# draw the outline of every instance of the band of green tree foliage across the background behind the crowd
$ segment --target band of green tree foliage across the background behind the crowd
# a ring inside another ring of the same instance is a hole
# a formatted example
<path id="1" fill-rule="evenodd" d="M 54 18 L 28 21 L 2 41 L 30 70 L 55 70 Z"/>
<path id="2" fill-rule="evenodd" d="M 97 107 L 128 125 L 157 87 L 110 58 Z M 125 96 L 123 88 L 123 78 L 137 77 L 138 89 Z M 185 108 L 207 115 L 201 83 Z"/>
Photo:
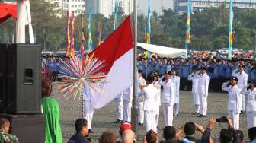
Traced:
<path id="1" fill-rule="evenodd" d="M 37 43 L 46 50 L 66 49 L 66 11 L 57 11 L 55 5 L 45 0 L 30 1 L 34 37 Z M 122 11 L 120 11 L 120 14 Z M 234 8 L 233 47 L 239 49 L 254 49 L 256 46 L 256 11 Z M 98 23 L 100 14 L 92 16 L 93 47 L 97 46 Z M 133 17 L 133 14 L 131 14 Z M 85 24 L 85 49 L 88 47 L 88 14 L 82 16 Z M 125 16 L 119 16 L 117 24 L 121 24 Z M 151 43 L 184 48 L 185 24 L 187 15 L 177 15 L 170 9 L 158 15 L 152 13 Z M 133 21 L 133 19 L 132 19 Z M 11 43 L 14 33 L 14 20 L 10 19 L 0 25 L 0 43 Z M 75 17 L 75 49 L 81 46 L 81 16 Z M 102 16 L 101 40 L 105 40 L 113 33 L 114 15 L 110 18 Z M 146 41 L 146 15 L 138 15 L 138 42 Z M 71 30 L 71 28 L 70 28 Z M 229 8 L 222 5 L 220 8 L 208 8 L 196 12 L 191 16 L 190 49 L 214 50 L 227 48 L 229 43 Z M 28 39 L 28 38 L 27 38 Z"/>

